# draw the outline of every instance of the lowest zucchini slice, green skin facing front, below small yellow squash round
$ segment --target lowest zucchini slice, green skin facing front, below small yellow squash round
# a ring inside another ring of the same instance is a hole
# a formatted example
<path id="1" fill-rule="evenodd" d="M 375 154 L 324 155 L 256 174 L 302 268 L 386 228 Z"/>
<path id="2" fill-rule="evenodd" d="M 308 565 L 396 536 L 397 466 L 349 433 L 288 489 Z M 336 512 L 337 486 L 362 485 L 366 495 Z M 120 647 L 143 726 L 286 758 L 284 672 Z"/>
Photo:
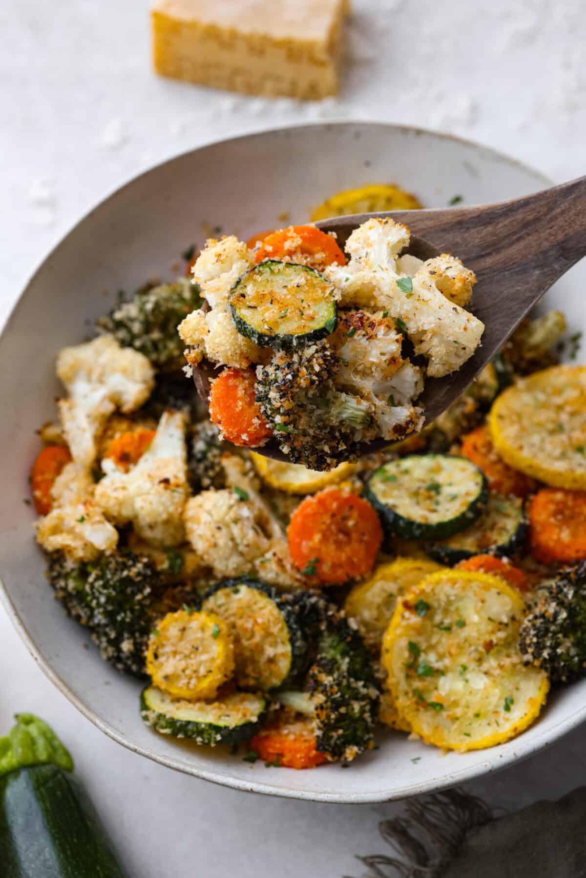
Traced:
<path id="1" fill-rule="evenodd" d="M 141 694 L 141 717 L 151 729 L 198 744 L 237 744 L 260 729 L 266 700 L 234 692 L 215 702 L 188 702 L 148 686 Z"/>

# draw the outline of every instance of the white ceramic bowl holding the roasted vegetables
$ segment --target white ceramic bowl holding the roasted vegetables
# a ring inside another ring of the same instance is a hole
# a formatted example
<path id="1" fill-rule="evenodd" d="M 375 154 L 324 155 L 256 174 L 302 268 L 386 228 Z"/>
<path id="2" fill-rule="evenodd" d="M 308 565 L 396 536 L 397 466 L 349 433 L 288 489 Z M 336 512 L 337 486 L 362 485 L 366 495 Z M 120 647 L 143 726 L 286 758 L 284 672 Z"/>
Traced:
<path id="1" fill-rule="evenodd" d="M 380 749 L 349 769 L 295 772 L 255 766 L 228 755 L 157 735 L 141 722 L 140 684 L 100 659 L 89 638 L 54 601 L 45 558 L 32 535 L 27 474 L 54 418 L 54 356 L 81 342 L 91 321 L 120 288 L 153 275 L 170 277 L 172 263 L 210 227 L 248 236 L 307 219 L 311 207 L 340 189 L 397 182 L 425 205 L 455 195 L 467 204 L 525 195 L 543 176 L 493 150 L 413 128 L 372 123 L 303 126 L 252 134 L 196 149 L 143 174 L 98 205 L 61 241 L 36 272 L 0 341 L 0 567 L 4 604 L 47 676 L 114 740 L 163 765 L 209 781 L 272 795 L 322 802 L 380 802 L 466 781 L 522 759 L 586 717 L 586 680 L 552 697 L 530 730 L 509 744 L 450 753 L 392 732 Z M 280 219 L 279 214 L 281 214 Z M 439 242 L 438 242 L 439 243 Z M 177 270 L 177 265 L 176 269 Z M 586 264 L 548 294 L 572 328 L 586 322 L 579 291 Z"/>

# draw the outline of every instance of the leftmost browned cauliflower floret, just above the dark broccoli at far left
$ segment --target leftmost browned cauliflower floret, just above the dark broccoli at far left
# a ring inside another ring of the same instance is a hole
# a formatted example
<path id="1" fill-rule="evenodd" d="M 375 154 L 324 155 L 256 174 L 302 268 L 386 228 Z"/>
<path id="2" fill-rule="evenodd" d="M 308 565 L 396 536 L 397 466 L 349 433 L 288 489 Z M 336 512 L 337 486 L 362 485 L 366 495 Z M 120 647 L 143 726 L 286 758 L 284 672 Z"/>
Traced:
<path id="1" fill-rule="evenodd" d="M 45 551 L 63 551 L 76 561 L 93 561 L 118 545 L 118 531 L 106 522 L 93 502 L 94 480 L 89 470 L 72 462 L 55 479 L 53 509 L 35 525 Z"/>

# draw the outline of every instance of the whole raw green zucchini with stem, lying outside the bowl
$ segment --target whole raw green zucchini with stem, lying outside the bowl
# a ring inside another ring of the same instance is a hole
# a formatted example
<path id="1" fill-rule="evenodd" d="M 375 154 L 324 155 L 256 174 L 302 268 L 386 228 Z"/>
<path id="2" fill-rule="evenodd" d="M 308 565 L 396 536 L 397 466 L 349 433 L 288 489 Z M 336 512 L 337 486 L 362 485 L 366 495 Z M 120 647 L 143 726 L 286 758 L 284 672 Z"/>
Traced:
<path id="1" fill-rule="evenodd" d="M 126 878 L 73 760 L 37 716 L 0 738 L 2 878 Z"/>

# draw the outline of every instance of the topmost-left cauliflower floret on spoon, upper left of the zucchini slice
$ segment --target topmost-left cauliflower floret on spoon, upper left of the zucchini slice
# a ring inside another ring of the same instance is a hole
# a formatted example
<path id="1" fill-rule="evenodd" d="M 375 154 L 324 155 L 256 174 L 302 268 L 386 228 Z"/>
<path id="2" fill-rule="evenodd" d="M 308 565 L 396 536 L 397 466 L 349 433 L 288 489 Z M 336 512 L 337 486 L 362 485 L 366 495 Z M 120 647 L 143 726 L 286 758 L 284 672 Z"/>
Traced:
<path id="1" fill-rule="evenodd" d="M 210 306 L 225 308 L 228 293 L 238 278 L 254 263 L 254 255 L 234 235 L 216 241 L 210 238 L 192 268 L 193 280 Z"/>

